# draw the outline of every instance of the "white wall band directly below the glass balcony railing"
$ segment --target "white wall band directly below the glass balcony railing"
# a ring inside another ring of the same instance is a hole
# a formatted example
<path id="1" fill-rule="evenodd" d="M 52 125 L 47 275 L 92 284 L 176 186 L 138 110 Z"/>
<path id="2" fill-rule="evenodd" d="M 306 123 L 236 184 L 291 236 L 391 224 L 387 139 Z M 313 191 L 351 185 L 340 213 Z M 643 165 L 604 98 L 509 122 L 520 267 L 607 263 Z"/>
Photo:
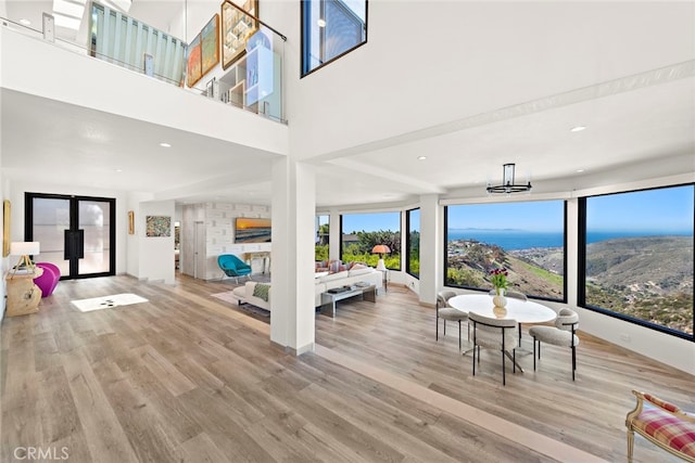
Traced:
<path id="1" fill-rule="evenodd" d="M 287 154 L 288 127 L 282 124 L 7 27 L 0 28 L 0 47 L 1 62 L 12 63 L 2 67 L 3 88 Z M 61 72 L 47 78 L 47 69 Z M 121 90 L 112 91 L 112 87 Z M 173 101 L 186 111 L 172 111 Z"/>

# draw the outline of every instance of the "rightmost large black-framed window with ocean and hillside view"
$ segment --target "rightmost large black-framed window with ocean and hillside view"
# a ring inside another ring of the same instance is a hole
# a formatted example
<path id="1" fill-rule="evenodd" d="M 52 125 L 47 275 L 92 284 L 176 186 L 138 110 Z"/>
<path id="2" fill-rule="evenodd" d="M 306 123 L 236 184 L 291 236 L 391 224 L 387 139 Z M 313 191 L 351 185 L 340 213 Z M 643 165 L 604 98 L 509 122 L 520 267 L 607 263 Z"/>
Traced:
<path id="1" fill-rule="evenodd" d="M 694 216 L 693 184 L 582 198 L 580 305 L 692 339 Z"/>

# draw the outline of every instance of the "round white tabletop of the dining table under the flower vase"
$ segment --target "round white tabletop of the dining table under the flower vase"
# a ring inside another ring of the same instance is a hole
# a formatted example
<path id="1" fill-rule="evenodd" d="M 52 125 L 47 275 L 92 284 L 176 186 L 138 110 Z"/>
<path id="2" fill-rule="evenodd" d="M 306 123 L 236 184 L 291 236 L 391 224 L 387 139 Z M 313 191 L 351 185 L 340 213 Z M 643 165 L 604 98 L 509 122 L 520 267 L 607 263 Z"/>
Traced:
<path id="1" fill-rule="evenodd" d="M 557 318 L 555 310 L 532 300 L 507 297 L 507 313 L 504 319 L 514 319 L 518 323 L 545 323 Z M 489 294 L 460 294 L 448 299 L 448 305 L 464 312 L 473 312 L 491 319 L 500 318 L 492 310 L 492 296 Z"/>

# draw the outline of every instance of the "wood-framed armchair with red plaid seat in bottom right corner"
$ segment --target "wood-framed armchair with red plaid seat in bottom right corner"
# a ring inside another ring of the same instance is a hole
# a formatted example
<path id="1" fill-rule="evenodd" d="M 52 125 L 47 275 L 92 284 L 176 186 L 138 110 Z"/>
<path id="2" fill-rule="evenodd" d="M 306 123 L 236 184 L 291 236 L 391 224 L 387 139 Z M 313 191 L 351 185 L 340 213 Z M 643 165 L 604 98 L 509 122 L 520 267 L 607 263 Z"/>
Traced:
<path id="1" fill-rule="evenodd" d="M 695 463 L 695 414 L 650 394 L 633 390 L 637 403 L 626 417 L 628 462 L 632 462 L 634 433 L 686 462 Z"/>

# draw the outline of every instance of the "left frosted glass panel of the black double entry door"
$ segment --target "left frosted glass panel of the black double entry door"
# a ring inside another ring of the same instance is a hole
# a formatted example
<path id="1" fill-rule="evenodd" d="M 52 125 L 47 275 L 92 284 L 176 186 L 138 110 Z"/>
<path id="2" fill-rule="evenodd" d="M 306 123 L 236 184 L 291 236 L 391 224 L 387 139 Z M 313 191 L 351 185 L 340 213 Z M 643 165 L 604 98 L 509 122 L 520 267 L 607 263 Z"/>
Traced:
<path id="1" fill-rule="evenodd" d="M 70 229 L 70 200 L 35 197 L 33 224 L 33 240 L 41 246 L 41 254 L 34 256 L 34 261 L 54 263 L 62 275 L 70 274 L 70 261 L 63 254 L 65 230 Z"/>

